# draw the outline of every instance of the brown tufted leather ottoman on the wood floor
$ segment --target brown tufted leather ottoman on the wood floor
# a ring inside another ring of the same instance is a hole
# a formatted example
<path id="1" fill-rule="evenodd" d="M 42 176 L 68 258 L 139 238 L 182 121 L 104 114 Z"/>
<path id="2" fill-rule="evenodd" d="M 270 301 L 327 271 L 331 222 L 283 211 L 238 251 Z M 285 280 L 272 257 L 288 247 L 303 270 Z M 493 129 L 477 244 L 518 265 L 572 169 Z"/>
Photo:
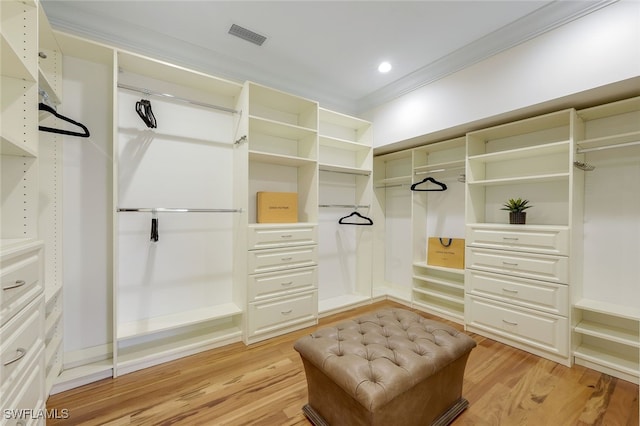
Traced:
<path id="1" fill-rule="evenodd" d="M 468 405 L 462 379 L 475 341 L 403 309 L 386 309 L 296 341 L 303 410 L 318 425 L 446 425 Z"/>

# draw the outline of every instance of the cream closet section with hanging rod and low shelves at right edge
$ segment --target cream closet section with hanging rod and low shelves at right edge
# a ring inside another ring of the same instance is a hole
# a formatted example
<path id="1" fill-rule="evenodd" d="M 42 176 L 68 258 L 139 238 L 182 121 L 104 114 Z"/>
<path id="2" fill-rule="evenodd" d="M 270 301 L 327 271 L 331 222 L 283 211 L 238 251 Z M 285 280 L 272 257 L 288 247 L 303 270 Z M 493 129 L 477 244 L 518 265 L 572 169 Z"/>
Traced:
<path id="1" fill-rule="evenodd" d="M 578 111 L 585 176 L 582 282 L 572 292 L 573 356 L 615 377 L 640 380 L 640 97 Z M 615 217 L 616 219 L 612 219 Z M 608 244 L 624 247 L 609 254 Z"/>

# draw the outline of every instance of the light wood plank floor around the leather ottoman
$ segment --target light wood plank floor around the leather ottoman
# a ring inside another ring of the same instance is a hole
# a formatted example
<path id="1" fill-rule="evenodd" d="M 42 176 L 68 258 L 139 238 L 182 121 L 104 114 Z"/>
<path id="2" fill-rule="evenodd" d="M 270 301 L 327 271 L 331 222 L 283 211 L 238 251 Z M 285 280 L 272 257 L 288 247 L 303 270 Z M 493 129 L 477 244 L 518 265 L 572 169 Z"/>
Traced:
<path id="1" fill-rule="evenodd" d="M 319 326 L 395 305 L 381 302 L 320 320 Z M 429 316 L 423 314 L 424 316 Z M 458 329 L 460 326 L 454 325 Z M 310 425 L 307 389 L 293 342 L 308 328 L 246 347 L 241 343 L 53 395 L 63 425 Z M 567 368 L 471 334 L 463 396 L 453 425 L 638 426 L 638 386 Z"/>

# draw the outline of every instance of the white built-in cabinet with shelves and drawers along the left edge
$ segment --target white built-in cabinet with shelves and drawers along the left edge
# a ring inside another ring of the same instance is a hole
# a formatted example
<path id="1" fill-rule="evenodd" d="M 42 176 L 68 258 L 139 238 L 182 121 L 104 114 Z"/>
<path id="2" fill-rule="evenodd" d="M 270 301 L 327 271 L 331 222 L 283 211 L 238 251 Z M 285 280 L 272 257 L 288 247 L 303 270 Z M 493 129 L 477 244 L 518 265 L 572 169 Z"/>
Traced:
<path id="1" fill-rule="evenodd" d="M 8 424 L 44 424 L 5 410 L 42 412 L 60 368 L 60 192 L 49 185 L 59 172 L 59 147 L 38 131 L 39 123 L 57 124 L 39 114 L 38 103 L 60 102 L 59 53 L 37 1 L 3 1 L 0 8 L 0 409 Z"/>

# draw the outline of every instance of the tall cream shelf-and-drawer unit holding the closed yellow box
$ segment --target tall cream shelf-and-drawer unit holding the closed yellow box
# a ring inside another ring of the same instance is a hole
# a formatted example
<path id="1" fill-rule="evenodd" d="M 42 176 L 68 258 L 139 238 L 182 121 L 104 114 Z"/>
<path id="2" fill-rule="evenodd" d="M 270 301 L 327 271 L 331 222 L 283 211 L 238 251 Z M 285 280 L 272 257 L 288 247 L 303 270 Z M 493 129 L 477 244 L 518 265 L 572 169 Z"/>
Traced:
<path id="1" fill-rule="evenodd" d="M 251 344 L 317 323 L 318 104 L 247 82 L 237 108 L 234 194 L 244 213 L 234 276 L 247 286 Z M 297 222 L 258 223 L 262 191 L 297 193 Z"/>

